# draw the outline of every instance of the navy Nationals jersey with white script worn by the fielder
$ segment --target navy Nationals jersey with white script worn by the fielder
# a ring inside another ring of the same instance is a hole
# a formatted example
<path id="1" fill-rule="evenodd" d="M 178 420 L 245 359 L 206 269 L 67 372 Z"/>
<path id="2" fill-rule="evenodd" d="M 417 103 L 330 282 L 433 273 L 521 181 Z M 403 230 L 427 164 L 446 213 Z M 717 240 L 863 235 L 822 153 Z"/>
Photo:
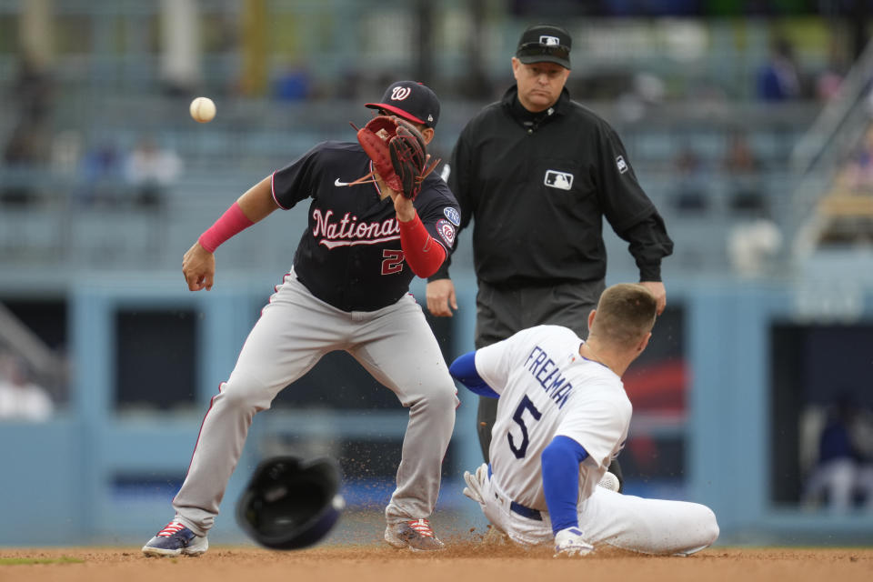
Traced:
<path id="1" fill-rule="evenodd" d="M 395 303 L 415 276 L 400 246 L 400 226 L 390 196 L 375 184 L 346 186 L 372 169 L 356 143 L 325 142 L 273 174 L 273 197 L 288 209 L 305 198 L 309 226 L 300 238 L 294 270 L 322 301 L 343 311 L 374 311 Z M 442 178 L 425 178 L 414 201 L 430 236 L 455 245 L 460 211 Z"/>

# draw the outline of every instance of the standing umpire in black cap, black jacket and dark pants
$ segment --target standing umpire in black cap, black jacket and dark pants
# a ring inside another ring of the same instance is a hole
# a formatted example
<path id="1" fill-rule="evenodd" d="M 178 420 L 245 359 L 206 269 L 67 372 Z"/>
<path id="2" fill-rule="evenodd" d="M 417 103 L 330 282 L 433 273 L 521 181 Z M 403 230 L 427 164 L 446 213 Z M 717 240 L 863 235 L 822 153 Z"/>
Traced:
<path id="1" fill-rule="evenodd" d="M 560 26 L 528 27 L 512 58 L 516 85 L 467 123 L 444 170 L 460 228 L 476 219 L 477 349 L 540 324 L 587 336 L 587 315 L 606 288 L 603 216 L 630 244 L 658 314 L 667 303 L 660 266 L 673 242 L 615 130 L 570 100 L 571 44 Z M 448 264 L 428 279 L 434 316 L 457 309 Z M 486 460 L 496 415 L 497 399 L 480 397 Z"/>

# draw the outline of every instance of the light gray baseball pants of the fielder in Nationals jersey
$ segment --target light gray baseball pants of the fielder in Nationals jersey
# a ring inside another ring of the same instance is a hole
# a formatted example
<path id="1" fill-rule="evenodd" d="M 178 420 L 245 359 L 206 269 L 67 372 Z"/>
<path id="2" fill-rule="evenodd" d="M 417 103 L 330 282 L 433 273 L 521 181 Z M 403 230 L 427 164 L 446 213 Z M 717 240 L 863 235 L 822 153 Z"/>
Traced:
<path id="1" fill-rule="evenodd" d="M 185 483 L 173 500 L 176 521 L 206 535 L 255 413 L 334 350 L 354 356 L 409 408 L 386 521 L 431 515 L 459 402 L 421 307 L 407 294 L 376 311 L 342 311 L 313 296 L 292 272 L 270 297 L 234 371 L 212 399 Z"/>

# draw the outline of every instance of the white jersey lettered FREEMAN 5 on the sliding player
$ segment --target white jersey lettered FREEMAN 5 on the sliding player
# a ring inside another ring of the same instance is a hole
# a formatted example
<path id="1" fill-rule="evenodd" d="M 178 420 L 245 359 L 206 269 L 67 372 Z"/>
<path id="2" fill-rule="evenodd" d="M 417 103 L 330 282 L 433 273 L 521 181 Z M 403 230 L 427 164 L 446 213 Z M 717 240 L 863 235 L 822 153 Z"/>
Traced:
<path id="1" fill-rule="evenodd" d="M 540 456 L 552 438 L 572 438 L 588 453 L 580 500 L 594 492 L 627 438 L 632 406 L 621 378 L 580 356 L 582 343 L 567 327 L 536 326 L 477 350 L 479 376 L 500 395 L 492 479 L 524 506 L 547 510 Z"/>

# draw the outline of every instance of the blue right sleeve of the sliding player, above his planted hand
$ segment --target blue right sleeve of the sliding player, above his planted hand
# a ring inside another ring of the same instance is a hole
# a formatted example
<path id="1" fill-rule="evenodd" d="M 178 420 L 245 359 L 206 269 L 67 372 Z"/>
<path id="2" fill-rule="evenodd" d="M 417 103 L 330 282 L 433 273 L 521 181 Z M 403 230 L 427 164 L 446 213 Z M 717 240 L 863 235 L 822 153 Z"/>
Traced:
<path id="1" fill-rule="evenodd" d="M 543 493 L 546 496 L 552 532 L 567 527 L 579 527 L 577 499 L 579 497 L 579 463 L 587 451 L 570 437 L 557 436 L 543 450 Z"/>

